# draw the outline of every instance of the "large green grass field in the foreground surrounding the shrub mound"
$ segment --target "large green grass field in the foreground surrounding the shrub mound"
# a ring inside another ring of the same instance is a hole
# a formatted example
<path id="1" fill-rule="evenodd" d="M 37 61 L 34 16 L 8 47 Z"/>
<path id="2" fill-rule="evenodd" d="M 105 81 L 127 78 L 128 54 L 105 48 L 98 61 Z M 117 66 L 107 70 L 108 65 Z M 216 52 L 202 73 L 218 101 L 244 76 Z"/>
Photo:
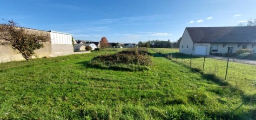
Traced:
<path id="1" fill-rule="evenodd" d="M 243 91 L 151 51 L 147 71 L 96 69 L 116 51 L 0 63 L 0 119 L 255 119 Z"/>

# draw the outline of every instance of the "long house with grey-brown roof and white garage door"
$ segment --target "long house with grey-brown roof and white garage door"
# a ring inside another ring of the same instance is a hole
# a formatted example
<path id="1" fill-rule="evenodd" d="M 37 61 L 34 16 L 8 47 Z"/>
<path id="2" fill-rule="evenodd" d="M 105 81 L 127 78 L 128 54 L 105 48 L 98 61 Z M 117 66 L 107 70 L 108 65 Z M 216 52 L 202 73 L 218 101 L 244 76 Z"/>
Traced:
<path id="1" fill-rule="evenodd" d="M 234 53 L 238 49 L 256 51 L 256 26 L 187 27 L 180 42 L 180 53 L 209 55 Z"/>

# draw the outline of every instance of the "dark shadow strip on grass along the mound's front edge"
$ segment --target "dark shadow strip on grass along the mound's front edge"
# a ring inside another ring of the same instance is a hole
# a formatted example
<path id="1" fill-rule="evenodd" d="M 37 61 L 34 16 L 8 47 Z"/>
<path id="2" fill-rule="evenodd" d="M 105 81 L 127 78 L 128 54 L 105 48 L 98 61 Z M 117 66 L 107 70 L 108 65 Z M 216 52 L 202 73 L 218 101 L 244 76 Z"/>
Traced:
<path id="1" fill-rule="evenodd" d="M 92 64 L 89 61 L 84 61 L 80 62 L 77 64 L 81 64 L 84 67 L 87 68 L 94 68 L 94 69 L 106 69 L 106 70 L 115 70 L 115 71 L 144 71 L 144 70 L 149 70 L 148 67 L 146 66 L 141 66 L 141 65 L 108 65 L 108 66 L 103 66 L 101 64 Z"/>

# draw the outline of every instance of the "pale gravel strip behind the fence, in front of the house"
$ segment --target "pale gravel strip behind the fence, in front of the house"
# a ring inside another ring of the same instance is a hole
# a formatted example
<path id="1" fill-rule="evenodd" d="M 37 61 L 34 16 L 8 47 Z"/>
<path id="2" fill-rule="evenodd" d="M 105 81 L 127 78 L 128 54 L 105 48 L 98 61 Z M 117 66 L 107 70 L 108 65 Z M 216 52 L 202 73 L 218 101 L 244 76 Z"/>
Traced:
<path id="1" fill-rule="evenodd" d="M 237 59 L 237 58 L 232 58 L 232 57 L 220 57 L 220 56 L 213 56 L 213 55 L 210 55 L 210 56 L 207 56 L 207 57 L 211 57 L 213 59 L 218 59 L 218 60 L 227 60 L 229 58 L 229 61 L 231 61 L 231 62 L 256 65 L 256 60 Z"/>

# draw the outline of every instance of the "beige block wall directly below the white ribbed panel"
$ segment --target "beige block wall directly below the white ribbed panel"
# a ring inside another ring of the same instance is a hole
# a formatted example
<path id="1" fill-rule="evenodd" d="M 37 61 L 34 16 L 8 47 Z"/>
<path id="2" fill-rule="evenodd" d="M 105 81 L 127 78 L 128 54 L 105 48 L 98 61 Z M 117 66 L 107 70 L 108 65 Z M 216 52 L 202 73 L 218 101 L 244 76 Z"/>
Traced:
<path id="1" fill-rule="evenodd" d="M 52 44 L 52 55 L 56 56 L 66 56 L 74 54 L 74 48 L 72 44 Z"/>

